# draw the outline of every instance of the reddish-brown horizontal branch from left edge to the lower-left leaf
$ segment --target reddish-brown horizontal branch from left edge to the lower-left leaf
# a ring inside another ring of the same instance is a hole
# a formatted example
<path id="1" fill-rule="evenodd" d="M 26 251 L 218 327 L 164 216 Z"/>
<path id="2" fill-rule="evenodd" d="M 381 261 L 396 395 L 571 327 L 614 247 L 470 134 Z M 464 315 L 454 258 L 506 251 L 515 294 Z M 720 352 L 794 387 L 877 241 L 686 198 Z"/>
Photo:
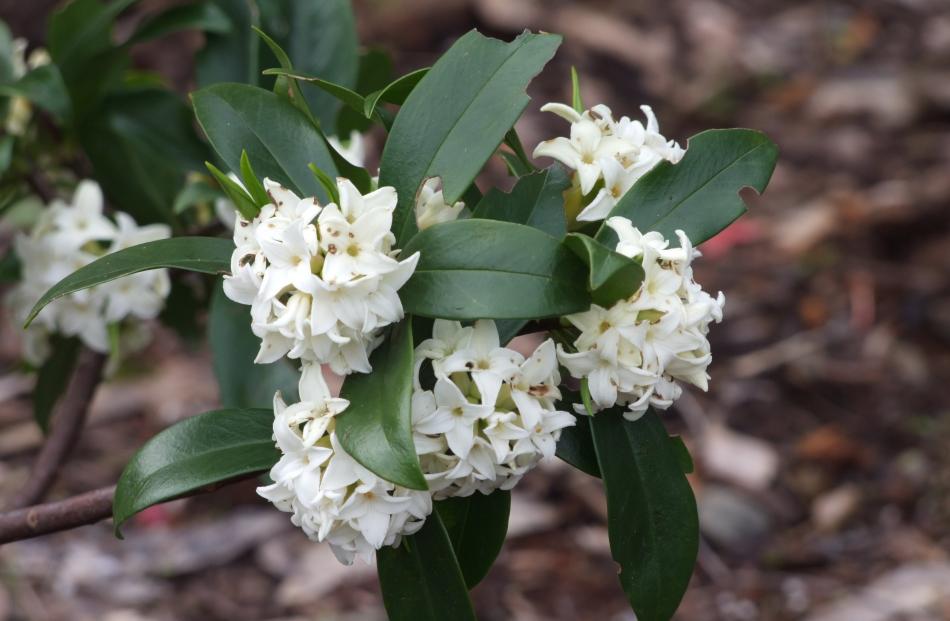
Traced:
<path id="1" fill-rule="evenodd" d="M 112 515 L 115 486 L 57 502 L 0 513 L 0 544 L 93 524 Z"/>

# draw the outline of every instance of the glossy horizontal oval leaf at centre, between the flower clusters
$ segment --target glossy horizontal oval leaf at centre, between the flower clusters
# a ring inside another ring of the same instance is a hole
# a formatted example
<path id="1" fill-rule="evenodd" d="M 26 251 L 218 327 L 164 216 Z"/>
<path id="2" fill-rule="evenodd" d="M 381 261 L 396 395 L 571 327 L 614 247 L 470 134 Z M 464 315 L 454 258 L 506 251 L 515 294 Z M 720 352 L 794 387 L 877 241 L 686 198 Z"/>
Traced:
<path id="1" fill-rule="evenodd" d="M 511 222 L 456 220 L 402 251 L 419 264 L 399 291 L 406 312 L 443 319 L 537 319 L 586 310 L 586 270 L 546 233 Z"/>

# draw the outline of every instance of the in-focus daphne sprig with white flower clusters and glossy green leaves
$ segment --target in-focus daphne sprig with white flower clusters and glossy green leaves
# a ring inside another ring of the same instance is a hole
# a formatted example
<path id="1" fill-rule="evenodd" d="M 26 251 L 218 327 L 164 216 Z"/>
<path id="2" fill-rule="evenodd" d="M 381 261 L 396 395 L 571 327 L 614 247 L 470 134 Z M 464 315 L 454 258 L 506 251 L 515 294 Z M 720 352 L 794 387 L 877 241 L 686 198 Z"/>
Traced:
<path id="1" fill-rule="evenodd" d="M 115 492 L 116 532 L 151 505 L 260 474 L 258 493 L 310 539 L 344 563 L 375 557 L 392 619 L 474 619 L 468 590 L 502 546 L 510 490 L 557 456 L 603 480 L 637 617 L 669 619 L 699 536 L 689 454 L 660 412 L 686 385 L 707 389 L 725 301 L 692 263 L 745 211 L 739 190 L 764 191 L 775 145 L 723 129 L 681 148 L 649 107 L 645 123 L 585 108 L 575 77 L 571 105 L 541 108 L 570 126 L 537 145 L 554 160 L 539 169 L 514 126 L 557 35 L 472 31 L 431 68 L 370 86 L 343 70 L 360 63 L 355 44 L 330 70 L 254 38 L 280 65 L 264 71 L 273 89 L 252 76 L 192 94 L 231 234 L 94 258 L 24 313 L 42 320 L 149 270 L 223 282 L 210 340 L 232 407 L 140 449 Z M 386 136 L 378 174 L 357 152 L 372 125 Z M 475 183 L 493 157 L 510 192 Z M 527 354 L 509 345 L 539 332 Z M 329 371 L 344 376 L 339 395 Z"/>

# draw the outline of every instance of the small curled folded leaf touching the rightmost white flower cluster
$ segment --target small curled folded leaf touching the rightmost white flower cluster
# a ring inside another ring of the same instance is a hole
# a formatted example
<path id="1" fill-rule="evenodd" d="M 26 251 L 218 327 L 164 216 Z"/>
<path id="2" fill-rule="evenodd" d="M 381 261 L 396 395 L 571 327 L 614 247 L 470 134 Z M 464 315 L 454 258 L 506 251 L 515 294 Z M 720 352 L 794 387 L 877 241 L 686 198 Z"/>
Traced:
<path id="1" fill-rule="evenodd" d="M 587 264 L 590 270 L 587 290 L 594 302 L 604 308 L 629 298 L 643 283 L 643 268 L 639 263 L 587 235 L 571 233 L 564 244 Z"/>

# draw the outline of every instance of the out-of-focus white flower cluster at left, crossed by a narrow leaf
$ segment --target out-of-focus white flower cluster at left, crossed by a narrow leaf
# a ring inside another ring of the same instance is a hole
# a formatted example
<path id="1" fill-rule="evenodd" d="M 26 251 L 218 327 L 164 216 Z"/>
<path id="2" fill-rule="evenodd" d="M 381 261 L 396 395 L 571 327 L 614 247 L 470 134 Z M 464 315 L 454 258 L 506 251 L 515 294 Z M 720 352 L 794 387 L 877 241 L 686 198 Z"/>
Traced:
<path id="1" fill-rule="evenodd" d="M 126 213 L 116 212 L 115 222 L 102 213 L 102 190 L 94 181 L 82 181 L 72 202 L 54 200 L 44 209 L 29 234 L 19 234 L 14 249 L 21 264 L 20 283 L 8 303 L 17 321 L 53 285 L 99 257 L 164 239 L 171 234 L 163 224 L 138 226 Z M 24 357 L 39 365 L 49 355 L 53 333 L 77 336 L 98 352 L 109 351 L 108 327 L 126 319 L 153 319 L 165 305 L 170 282 L 167 270 L 139 272 L 77 291 L 51 302 L 30 324 L 24 336 Z M 142 326 L 123 326 L 123 335 L 141 341 Z M 129 332 L 129 330 L 131 332 Z M 135 343 L 125 343 L 134 345 Z"/>

